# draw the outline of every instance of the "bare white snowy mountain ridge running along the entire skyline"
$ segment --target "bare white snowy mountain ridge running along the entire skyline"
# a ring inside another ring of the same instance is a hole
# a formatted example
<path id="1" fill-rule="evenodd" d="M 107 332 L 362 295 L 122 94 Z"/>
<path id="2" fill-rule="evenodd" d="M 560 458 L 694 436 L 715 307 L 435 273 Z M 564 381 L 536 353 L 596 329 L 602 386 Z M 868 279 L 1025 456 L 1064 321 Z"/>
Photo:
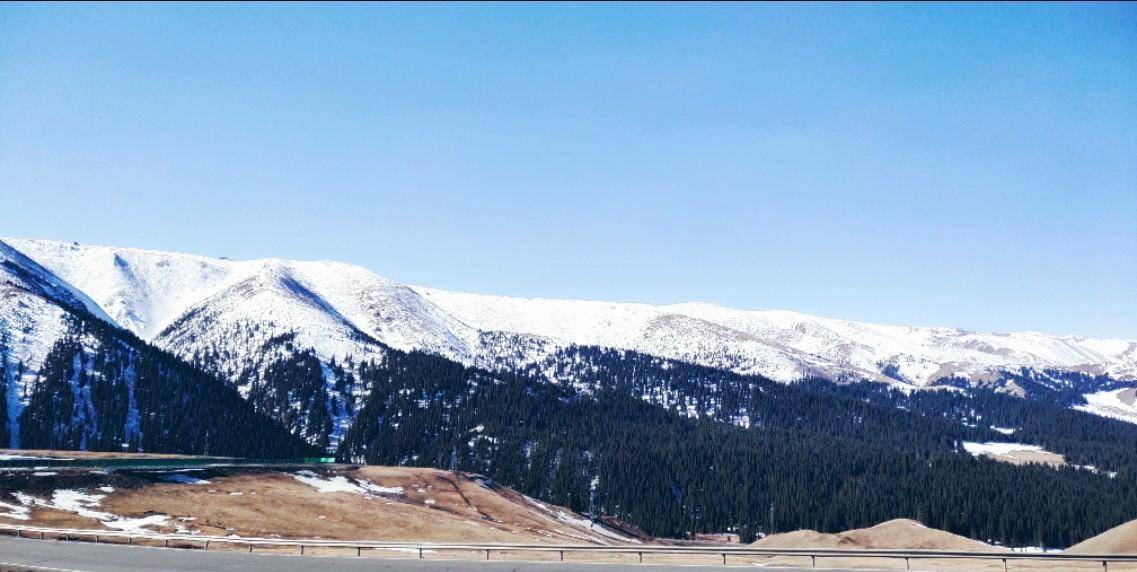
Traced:
<path id="1" fill-rule="evenodd" d="M 379 341 L 465 364 L 492 363 L 501 348 L 484 343 L 482 334 L 505 332 L 554 346 L 636 350 L 785 382 L 816 374 L 924 387 L 951 378 L 984 382 L 1022 367 L 1137 380 L 1132 340 L 879 325 L 700 302 L 471 295 L 407 287 L 343 263 L 235 262 L 2 240 L 94 300 L 116 324 L 183 356 L 192 354 L 190 340 L 209 337 L 200 323 L 208 315 L 215 326 L 271 323 L 294 332 L 298 343 L 326 358 L 381 353 L 374 347 Z"/>

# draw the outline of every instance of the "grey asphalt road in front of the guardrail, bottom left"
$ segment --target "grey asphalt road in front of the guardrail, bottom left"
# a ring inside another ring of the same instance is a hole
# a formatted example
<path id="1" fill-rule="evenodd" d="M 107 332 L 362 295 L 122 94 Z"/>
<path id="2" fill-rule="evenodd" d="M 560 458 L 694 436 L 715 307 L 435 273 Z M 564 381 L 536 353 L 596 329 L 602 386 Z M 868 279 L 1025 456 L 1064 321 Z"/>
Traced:
<path id="1" fill-rule="evenodd" d="M 672 566 L 655 564 L 576 564 L 479 561 L 420 561 L 390 558 L 334 558 L 318 556 L 274 556 L 262 554 L 147 548 L 91 542 L 30 540 L 0 537 L 0 572 L 206 572 L 206 571 L 453 571 L 453 572 L 691 572 L 719 571 L 722 566 Z M 775 569 L 763 569 L 775 570 Z M 807 569 L 777 569 L 796 571 Z"/>

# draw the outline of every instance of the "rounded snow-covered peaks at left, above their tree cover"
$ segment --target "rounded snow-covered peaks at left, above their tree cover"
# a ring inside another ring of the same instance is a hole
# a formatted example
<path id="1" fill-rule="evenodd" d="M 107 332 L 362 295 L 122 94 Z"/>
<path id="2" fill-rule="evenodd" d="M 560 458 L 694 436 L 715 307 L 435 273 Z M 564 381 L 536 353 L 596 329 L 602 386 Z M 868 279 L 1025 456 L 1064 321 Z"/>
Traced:
<path id="1" fill-rule="evenodd" d="M 413 290 L 349 264 L 234 262 L 49 240 L 3 241 L 78 284 L 113 323 L 159 346 L 164 338 L 179 334 L 171 329 L 175 321 L 209 307 L 225 320 L 294 329 L 327 357 L 357 350 L 358 345 L 347 339 L 365 333 L 395 348 L 468 360 L 470 343 L 478 338 Z"/>

